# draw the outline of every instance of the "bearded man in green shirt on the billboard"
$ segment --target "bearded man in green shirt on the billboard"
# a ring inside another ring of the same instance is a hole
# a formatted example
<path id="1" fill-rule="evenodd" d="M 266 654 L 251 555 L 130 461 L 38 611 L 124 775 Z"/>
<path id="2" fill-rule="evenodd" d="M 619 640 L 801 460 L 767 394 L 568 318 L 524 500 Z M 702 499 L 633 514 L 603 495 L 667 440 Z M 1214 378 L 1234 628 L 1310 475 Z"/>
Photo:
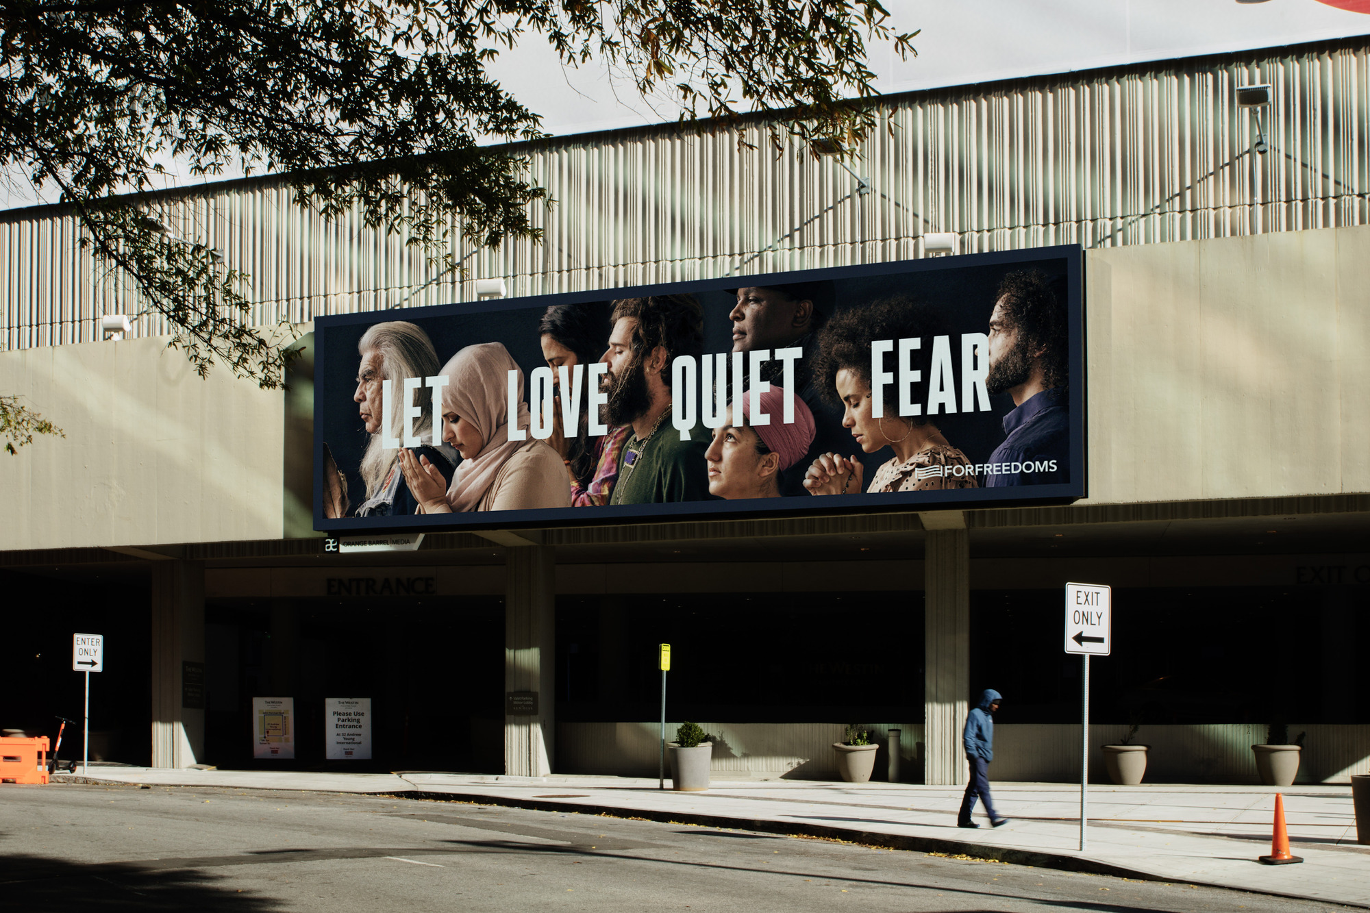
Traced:
<path id="1" fill-rule="evenodd" d="M 600 358 L 608 365 L 606 419 L 632 425 L 619 455 L 611 504 L 660 504 L 708 499 L 710 432 L 701 425 L 681 440 L 670 422 L 671 363 L 704 354 L 704 311 L 693 295 L 655 295 L 614 302 L 614 329 Z"/>

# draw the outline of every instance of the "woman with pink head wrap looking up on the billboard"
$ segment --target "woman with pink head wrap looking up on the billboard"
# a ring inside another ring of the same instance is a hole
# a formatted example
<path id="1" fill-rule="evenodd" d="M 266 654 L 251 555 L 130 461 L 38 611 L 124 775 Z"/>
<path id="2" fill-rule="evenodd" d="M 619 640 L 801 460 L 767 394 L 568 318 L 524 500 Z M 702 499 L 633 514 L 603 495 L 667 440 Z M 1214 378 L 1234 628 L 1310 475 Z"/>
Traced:
<path id="1" fill-rule="evenodd" d="M 744 421 L 758 411 L 769 425 L 725 425 L 714 429 L 714 443 L 704 452 L 708 494 L 726 500 L 780 498 L 780 474 L 797 463 L 814 443 L 814 414 L 795 396 L 795 421 L 785 424 L 785 389 L 771 387 L 756 396 L 743 393 Z"/>

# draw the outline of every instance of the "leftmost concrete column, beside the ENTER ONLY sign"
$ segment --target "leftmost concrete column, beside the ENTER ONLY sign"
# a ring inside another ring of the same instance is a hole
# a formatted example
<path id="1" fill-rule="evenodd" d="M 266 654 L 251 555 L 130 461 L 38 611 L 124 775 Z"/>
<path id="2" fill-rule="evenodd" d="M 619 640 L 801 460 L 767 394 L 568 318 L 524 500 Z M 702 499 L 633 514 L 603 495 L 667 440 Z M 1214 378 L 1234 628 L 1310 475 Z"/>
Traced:
<path id="1" fill-rule="evenodd" d="M 204 568 L 192 561 L 158 561 L 152 563 L 155 768 L 189 768 L 204 754 L 204 707 L 182 706 L 186 662 L 200 665 L 199 695 L 203 698 Z"/>

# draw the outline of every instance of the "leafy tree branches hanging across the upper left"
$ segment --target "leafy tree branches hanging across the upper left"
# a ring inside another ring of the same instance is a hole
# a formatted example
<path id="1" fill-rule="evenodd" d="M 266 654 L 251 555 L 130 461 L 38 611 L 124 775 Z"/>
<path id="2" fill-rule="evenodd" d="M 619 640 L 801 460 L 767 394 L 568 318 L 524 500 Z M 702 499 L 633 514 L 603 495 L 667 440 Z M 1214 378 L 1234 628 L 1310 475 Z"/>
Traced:
<path id="1" fill-rule="evenodd" d="M 275 388 L 290 334 L 249 325 L 247 277 L 151 217 L 162 160 L 279 174 L 296 206 L 460 269 L 453 234 L 537 240 L 549 202 L 500 145 L 545 136 L 488 73 L 500 52 L 604 63 L 695 129 L 769 114 L 777 148 L 852 148 L 877 123 L 866 41 L 911 38 L 875 0 L 0 0 L 0 165 L 59 189 L 200 374 Z"/>

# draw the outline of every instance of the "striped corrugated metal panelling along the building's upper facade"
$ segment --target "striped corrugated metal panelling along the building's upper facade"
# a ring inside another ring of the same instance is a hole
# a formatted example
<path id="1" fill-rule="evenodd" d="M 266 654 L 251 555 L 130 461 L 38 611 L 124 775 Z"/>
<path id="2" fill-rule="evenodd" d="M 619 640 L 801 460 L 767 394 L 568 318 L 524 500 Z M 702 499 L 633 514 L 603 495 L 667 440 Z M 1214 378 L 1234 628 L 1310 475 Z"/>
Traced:
<path id="1" fill-rule="evenodd" d="M 467 281 L 356 212 L 297 210 L 271 180 L 179 197 L 162 218 L 251 276 L 259 324 L 469 300 L 478 277 L 534 295 L 908 259 L 925 232 L 977 252 L 1360 225 L 1367 70 L 1360 40 L 893 97 L 855 166 L 864 196 L 834 162 L 777 155 L 755 125 L 751 151 L 670 129 L 571 137 L 530 154 L 556 200 L 533 211 L 545 241 L 459 248 Z M 1274 86 L 1265 155 L 1233 103 L 1255 82 Z M 0 215 L 0 348 L 90 340 L 100 314 L 141 313 L 79 234 L 51 211 Z"/>

